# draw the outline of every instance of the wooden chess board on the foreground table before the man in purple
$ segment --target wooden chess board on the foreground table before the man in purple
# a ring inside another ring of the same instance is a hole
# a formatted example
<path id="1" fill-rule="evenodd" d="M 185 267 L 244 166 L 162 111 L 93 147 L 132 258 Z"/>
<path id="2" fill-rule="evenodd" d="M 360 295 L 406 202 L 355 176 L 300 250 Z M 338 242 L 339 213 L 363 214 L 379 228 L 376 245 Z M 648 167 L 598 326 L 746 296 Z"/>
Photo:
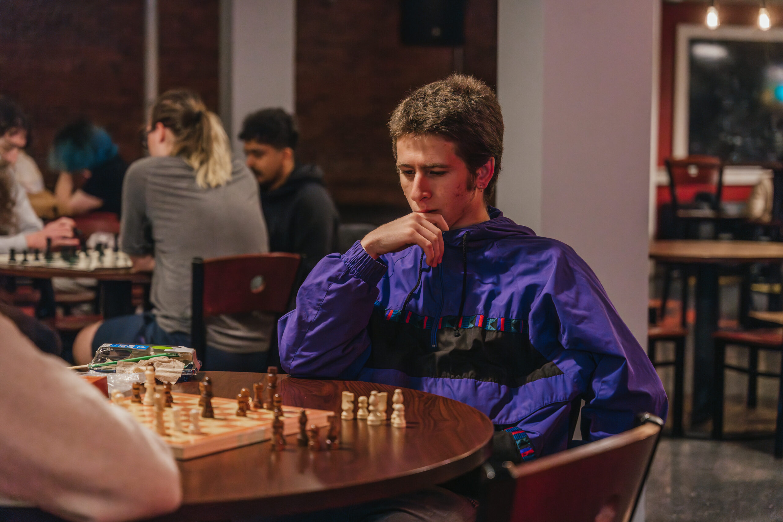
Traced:
<path id="1" fill-rule="evenodd" d="M 182 407 L 182 410 L 189 412 L 190 409 L 201 411 L 198 401 L 199 396 L 194 394 L 181 394 L 172 392 L 174 406 Z M 124 397 L 119 405 L 128 412 L 131 412 L 140 423 L 152 429 L 154 407 L 145 406 L 132 402 L 130 397 Z M 247 417 L 236 416 L 236 400 L 213 397 L 212 409 L 215 410 L 214 419 L 199 419 L 199 427 L 203 434 L 179 433 L 174 430 L 174 421 L 172 415 L 175 412 L 173 408 L 164 409 L 164 423 L 166 434 L 161 436 L 171 448 L 171 453 L 175 459 L 187 460 L 209 455 L 210 453 L 222 452 L 226 449 L 239 448 L 255 442 L 267 441 L 272 437 L 272 412 L 265 409 L 251 409 L 247 412 Z M 301 408 L 283 406 L 283 434 L 290 435 L 299 433 L 299 415 Z M 307 412 L 307 423 L 315 424 L 317 427 L 329 425 L 328 416 L 334 415 L 334 412 L 328 412 L 322 409 L 305 409 Z M 189 427 L 189 419 L 186 415 L 182 416 L 182 427 Z"/>

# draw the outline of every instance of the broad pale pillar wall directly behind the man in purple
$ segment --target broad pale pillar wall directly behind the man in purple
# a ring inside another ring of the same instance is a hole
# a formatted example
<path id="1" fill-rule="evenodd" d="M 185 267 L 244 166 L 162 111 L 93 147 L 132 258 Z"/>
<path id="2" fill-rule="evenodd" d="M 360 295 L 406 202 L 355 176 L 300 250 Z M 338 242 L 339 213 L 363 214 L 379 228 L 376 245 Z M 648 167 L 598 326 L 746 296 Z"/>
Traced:
<path id="1" fill-rule="evenodd" d="M 658 16 L 658 0 L 499 2 L 498 206 L 574 247 L 643 345 Z"/>

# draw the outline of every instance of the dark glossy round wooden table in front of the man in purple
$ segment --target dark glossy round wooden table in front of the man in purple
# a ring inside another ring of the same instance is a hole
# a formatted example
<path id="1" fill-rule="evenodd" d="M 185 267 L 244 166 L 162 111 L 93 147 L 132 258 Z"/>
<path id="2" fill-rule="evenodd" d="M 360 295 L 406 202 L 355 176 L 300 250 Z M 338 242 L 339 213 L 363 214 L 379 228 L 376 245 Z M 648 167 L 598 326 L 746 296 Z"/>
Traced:
<path id="1" fill-rule="evenodd" d="M 204 372 L 215 396 L 235 398 L 240 388 L 264 380 L 262 373 Z M 197 380 L 174 391 L 198 393 Z M 370 395 L 395 388 L 343 380 L 304 380 L 280 376 L 283 405 L 340 412 L 341 392 Z M 283 452 L 269 441 L 197 459 L 179 461 L 182 506 L 156 520 L 229 520 L 268 517 L 349 506 L 441 484 L 481 465 L 491 451 L 493 424 L 459 401 L 403 390 L 403 429 L 342 421 L 341 448 L 310 452 L 287 437 Z M 321 430 L 321 438 L 326 429 Z M 143 480 L 143 477 L 139 477 Z"/>

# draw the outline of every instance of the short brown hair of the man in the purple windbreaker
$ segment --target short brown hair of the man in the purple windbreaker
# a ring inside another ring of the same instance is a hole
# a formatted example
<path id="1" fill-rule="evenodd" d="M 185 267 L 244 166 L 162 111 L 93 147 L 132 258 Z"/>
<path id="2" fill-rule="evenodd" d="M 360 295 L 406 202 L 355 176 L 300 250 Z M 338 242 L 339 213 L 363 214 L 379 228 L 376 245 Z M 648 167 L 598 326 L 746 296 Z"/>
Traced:
<path id="1" fill-rule="evenodd" d="M 494 157 L 495 173 L 484 191 L 485 200 L 492 196 L 503 156 L 503 115 L 495 93 L 483 81 L 452 74 L 417 88 L 391 113 L 389 131 L 395 160 L 398 139 L 428 134 L 453 142 L 474 176 Z"/>

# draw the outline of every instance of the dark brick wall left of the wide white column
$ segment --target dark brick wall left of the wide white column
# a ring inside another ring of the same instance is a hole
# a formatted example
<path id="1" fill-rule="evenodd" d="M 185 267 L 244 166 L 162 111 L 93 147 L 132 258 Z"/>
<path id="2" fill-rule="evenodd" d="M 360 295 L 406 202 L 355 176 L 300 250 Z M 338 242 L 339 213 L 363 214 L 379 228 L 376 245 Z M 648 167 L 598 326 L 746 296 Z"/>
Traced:
<path id="1" fill-rule="evenodd" d="M 126 160 L 141 156 L 144 2 L 0 2 L 0 93 L 33 123 L 29 152 L 45 171 L 56 131 L 86 116 L 103 125 Z M 218 0 L 159 2 L 160 87 L 193 88 L 218 104 Z"/>

